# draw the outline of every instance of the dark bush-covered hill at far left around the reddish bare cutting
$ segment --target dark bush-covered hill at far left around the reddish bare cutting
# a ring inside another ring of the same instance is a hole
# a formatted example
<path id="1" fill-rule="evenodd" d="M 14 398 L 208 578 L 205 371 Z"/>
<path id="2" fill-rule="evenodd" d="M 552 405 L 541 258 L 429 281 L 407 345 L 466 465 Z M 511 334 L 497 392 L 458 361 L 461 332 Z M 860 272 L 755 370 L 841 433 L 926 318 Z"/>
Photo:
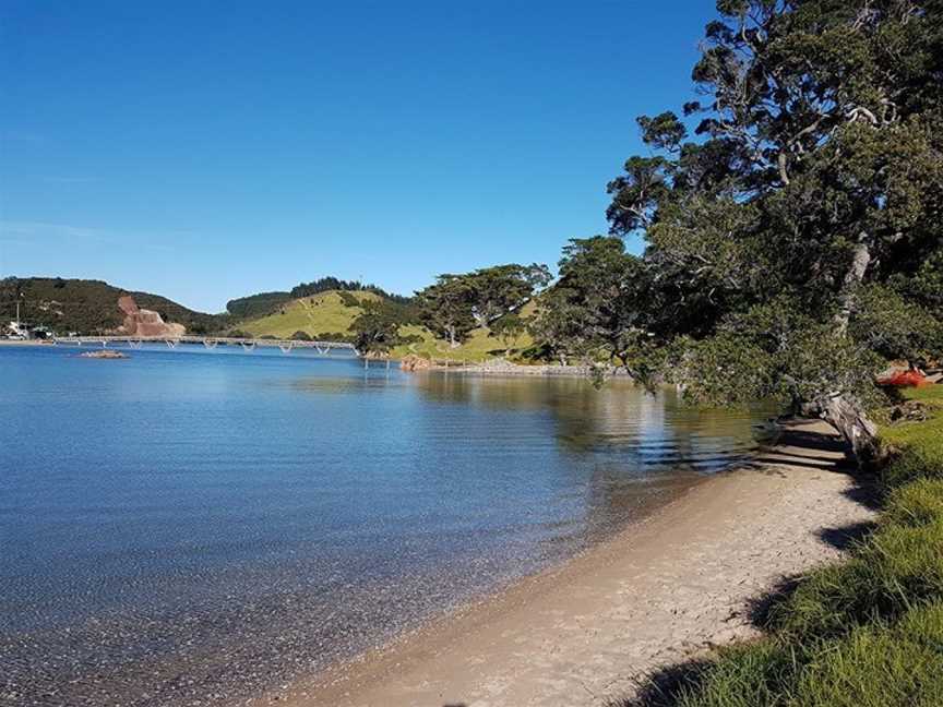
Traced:
<path id="1" fill-rule="evenodd" d="M 31 324 L 60 334 L 104 334 L 116 329 L 124 319 L 118 309 L 122 295 L 131 295 L 139 307 L 157 312 L 165 322 L 182 324 L 190 334 L 218 332 L 230 321 L 225 314 L 195 312 L 166 297 L 124 290 L 102 280 L 8 277 L 0 280 L 0 322 L 16 316 L 19 299 L 20 317 Z"/>

